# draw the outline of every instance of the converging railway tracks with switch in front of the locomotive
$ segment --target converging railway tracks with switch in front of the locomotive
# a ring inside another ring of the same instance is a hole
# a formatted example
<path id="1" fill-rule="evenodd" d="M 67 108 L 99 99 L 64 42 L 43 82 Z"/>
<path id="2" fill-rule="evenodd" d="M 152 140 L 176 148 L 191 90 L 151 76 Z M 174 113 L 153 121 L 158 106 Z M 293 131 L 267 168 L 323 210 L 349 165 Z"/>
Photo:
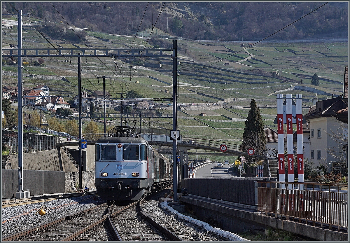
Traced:
<path id="1" fill-rule="evenodd" d="M 183 241 L 147 215 L 142 209 L 144 202 L 145 199 L 126 206 L 100 204 L 2 241 Z"/>

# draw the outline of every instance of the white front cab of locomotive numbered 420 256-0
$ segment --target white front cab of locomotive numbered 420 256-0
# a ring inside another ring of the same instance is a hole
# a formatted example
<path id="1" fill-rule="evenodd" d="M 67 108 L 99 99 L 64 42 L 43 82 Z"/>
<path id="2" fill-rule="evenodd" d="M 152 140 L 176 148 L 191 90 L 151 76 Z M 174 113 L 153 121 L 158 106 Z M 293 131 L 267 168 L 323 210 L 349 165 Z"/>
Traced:
<path id="1" fill-rule="evenodd" d="M 95 181 L 103 200 L 139 200 L 153 183 L 150 148 L 141 137 L 100 138 Z"/>

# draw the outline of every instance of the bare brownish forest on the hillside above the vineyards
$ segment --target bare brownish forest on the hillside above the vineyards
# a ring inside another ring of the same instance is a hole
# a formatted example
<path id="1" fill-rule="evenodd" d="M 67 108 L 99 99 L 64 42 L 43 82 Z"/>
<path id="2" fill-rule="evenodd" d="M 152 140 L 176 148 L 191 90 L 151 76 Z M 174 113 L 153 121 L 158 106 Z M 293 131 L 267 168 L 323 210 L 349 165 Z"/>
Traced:
<path id="1" fill-rule="evenodd" d="M 63 22 L 108 33 L 156 28 L 193 40 L 260 40 L 324 2 L 2 2 L 42 23 Z M 159 13 L 161 14 L 159 15 Z M 159 16 L 159 17 L 158 17 Z M 158 19 L 158 20 L 157 20 Z M 142 22 L 141 22 L 142 20 Z M 140 23 L 142 23 L 140 25 Z M 348 3 L 329 2 L 268 40 L 348 36 Z"/>

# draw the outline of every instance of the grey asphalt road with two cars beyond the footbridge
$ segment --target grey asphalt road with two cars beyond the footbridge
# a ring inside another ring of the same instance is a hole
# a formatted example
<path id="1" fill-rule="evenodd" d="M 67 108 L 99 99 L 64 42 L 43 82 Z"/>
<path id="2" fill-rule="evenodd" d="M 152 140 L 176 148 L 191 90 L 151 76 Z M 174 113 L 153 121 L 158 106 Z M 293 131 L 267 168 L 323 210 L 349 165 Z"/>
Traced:
<path id="1" fill-rule="evenodd" d="M 223 167 L 217 167 L 216 163 L 207 164 L 201 166 L 194 171 L 194 178 L 203 178 L 203 177 L 233 177 L 228 169 L 230 165 L 223 165 Z"/>

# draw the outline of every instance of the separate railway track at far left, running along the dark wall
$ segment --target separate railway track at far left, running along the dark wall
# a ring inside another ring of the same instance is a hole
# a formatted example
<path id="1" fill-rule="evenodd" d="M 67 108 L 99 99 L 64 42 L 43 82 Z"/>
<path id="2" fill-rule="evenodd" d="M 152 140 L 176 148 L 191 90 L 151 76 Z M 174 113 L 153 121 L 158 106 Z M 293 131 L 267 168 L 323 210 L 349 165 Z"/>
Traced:
<path id="1" fill-rule="evenodd" d="M 69 193 L 69 194 L 61 194 L 61 195 L 49 195 L 49 196 L 37 196 L 37 197 L 22 198 L 22 199 L 11 199 L 11 200 L 2 201 L 1 208 L 19 206 L 19 205 L 25 205 L 25 204 L 31 204 L 31 203 L 37 203 L 37 202 L 48 202 L 48 201 L 62 199 L 62 198 L 69 198 L 69 197 L 76 197 L 76 196 L 83 196 L 83 195 L 94 195 L 94 194 L 96 194 L 96 192 Z"/>

